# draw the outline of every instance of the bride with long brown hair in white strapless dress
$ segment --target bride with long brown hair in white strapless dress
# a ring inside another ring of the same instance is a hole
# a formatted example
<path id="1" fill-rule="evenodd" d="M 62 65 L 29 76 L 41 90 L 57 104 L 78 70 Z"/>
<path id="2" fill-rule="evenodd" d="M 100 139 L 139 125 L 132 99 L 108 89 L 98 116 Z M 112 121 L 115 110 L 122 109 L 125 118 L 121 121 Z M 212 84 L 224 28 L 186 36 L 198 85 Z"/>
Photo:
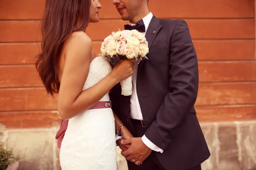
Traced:
<path id="1" fill-rule="evenodd" d="M 116 170 L 115 130 L 125 139 L 133 137 L 111 110 L 108 91 L 132 75 L 134 60 L 111 70 L 85 34 L 89 23 L 99 22 L 100 8 L 98 0 L 46 0 L 44 8 L 36 68 L 47 93 L 58 94 L 59 115 L 69 121 L 61 143 L 62 170 Z"/>

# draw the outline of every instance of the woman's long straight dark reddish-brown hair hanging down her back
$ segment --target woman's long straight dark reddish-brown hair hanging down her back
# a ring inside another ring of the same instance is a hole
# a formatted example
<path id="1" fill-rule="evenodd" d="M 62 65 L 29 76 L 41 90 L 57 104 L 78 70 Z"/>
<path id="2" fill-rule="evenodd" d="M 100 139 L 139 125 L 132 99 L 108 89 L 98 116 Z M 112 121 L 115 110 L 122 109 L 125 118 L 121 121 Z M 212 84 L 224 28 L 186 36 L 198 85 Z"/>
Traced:
<path id="1" fill-rule="evenodd" d="M 91 0 L 46 0 L 41 23 L 42 51 L 37 55 L 35 66 L 47 93 L 52 96 L 58 94 L 60 88 L 58 62 L 63 43 L 71 33 L 88 26 L 90 3 Z"/>

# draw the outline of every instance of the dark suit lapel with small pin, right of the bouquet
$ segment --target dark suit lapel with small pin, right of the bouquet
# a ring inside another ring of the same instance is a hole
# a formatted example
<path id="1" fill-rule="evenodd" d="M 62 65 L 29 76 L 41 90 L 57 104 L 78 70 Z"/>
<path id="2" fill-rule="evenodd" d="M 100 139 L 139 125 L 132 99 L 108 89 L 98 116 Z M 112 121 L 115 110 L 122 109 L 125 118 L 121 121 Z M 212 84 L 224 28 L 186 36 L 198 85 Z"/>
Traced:
<path id="1" fill-rule="evenodd" d="M 157 33 L 158 33 L 158 31 L 160 30 L 161 27 L 162 27 L 162 25 L 160 25 L 160 19 L 153 16 L 151 22 L 149 23 L 148 30 L 145 34 L 145 38 L 148 42 L 149 52 L 150 52 L 151 45 L 153 44 L 154 39 L 157 36 Z M 138 73 L 139 73 L 140 68 L 142 67 L 144 62 L 145 62 L 145 59 L 143 59 L 140 62 L 139 66 L 138 66 Z"/>

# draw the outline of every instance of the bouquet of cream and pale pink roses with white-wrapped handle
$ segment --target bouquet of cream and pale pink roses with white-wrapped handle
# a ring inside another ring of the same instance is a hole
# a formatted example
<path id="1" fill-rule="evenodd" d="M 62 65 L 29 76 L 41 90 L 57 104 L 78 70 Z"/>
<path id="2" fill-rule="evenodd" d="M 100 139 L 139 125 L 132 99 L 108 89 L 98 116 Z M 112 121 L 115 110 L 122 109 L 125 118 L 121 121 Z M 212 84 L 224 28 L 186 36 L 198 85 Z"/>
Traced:
<path id="1" fill-rule="evenodd" d="M 111 61 L 113 57 L 119 60 L 136 58 L 138 63 L 142 59 L 148 59 L 148 42 L 137 30 L 123 30 L 112 32 L 105 38 L 101 46 L 101 56 Z M 130 96 L 132 93 L 132 79 L 128 77 L 120 82 L 122 95 Z"/>

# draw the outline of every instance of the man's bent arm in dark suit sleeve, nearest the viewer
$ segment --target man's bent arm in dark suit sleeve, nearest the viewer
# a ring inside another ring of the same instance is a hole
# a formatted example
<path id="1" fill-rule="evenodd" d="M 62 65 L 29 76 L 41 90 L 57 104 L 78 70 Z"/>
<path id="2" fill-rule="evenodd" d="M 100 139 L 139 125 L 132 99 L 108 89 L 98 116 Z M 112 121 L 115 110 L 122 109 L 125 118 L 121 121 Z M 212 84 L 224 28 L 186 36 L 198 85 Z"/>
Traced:
<path id="1" fill-rule="evenodd" d="M 170 93 L 145 132 L 146 138 L 163 150 L 172 142 L 198 94 L 198 60 L 184 20 L 175 26 L 170 51 Z"/>

